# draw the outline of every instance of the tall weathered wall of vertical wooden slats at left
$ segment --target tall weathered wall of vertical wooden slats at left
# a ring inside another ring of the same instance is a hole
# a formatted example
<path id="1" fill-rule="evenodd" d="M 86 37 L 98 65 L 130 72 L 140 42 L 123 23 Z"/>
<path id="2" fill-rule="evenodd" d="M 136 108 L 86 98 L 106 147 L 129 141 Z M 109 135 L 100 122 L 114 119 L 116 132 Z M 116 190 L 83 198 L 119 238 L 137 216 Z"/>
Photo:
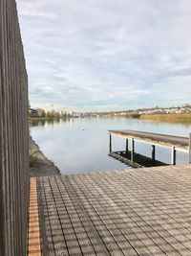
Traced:
<path id="1" fill-rule="evenodd" d="M 15 0 L 0 1 L 0 256 L 26 255 L 28 79 Z"/>

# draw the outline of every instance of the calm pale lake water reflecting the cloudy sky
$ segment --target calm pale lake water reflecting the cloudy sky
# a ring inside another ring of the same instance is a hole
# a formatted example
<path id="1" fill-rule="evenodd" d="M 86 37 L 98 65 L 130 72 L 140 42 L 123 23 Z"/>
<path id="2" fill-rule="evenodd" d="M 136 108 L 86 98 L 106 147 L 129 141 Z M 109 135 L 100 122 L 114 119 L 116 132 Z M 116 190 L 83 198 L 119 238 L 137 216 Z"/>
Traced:
<path id="1" fill-rule="evenodd" d="M 33 121 L 31 135 L 41 151 L 52 159 L 62 174 L 76 174 L 130 168 L 108 156 L 108 129 L 136 129 L 188 136 L 191 124 L 169 124 L 127 118 L 83 118 L 54 122 Z M 125 150 L 125 139 L 113 138 L 113 151 Z M 151 146 L 136 143 L 136 151 L 151 155 Z M 170 163 L 171 150 L 156 148 L 157 159 Z M 188 155 L 178 152 L 177 162 L 187 163 Z"/>

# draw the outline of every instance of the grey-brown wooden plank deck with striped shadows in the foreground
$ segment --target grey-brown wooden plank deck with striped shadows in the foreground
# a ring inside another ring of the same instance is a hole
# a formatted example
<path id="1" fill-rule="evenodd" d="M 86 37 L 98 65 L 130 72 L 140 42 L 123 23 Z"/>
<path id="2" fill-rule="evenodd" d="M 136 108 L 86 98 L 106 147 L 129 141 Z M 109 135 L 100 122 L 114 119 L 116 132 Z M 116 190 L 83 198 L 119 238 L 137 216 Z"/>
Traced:
<path id="1" fill-rule="evenodd" d="M 191 165 L 37 178 L 42 255 L 191 256 Z"/>

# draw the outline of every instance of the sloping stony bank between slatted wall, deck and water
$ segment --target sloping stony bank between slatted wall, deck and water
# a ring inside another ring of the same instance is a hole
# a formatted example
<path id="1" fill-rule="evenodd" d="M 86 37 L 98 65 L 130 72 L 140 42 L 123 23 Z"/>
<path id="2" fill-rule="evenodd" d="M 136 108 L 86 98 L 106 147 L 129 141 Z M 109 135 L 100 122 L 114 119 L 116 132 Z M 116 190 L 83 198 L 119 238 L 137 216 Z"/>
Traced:
<path id="1" fill-rule="evenodd" d="M 54 165 L 53 161 L 48 159 L 42 151 L 40 151 L 39 146 L 32 140 L 30 136 L 29 139 L 30 154 L 35 157 L 35 165 L 30 168 L 30 176 L 52 176 L 60 175 L 60 170 Z"/>

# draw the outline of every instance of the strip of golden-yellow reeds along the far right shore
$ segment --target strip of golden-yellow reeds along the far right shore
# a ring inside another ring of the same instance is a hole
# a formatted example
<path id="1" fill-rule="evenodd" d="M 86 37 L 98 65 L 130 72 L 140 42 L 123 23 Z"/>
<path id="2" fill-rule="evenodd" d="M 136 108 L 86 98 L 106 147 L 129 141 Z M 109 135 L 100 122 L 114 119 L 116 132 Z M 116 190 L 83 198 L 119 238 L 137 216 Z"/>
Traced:
<path id="1" fill-rule="evenodd" d="M 139 117 L 142 120 L 153 120 L 170 123 L 191 123 L 191 113 L 188 114 L 143 114 Z"/>

